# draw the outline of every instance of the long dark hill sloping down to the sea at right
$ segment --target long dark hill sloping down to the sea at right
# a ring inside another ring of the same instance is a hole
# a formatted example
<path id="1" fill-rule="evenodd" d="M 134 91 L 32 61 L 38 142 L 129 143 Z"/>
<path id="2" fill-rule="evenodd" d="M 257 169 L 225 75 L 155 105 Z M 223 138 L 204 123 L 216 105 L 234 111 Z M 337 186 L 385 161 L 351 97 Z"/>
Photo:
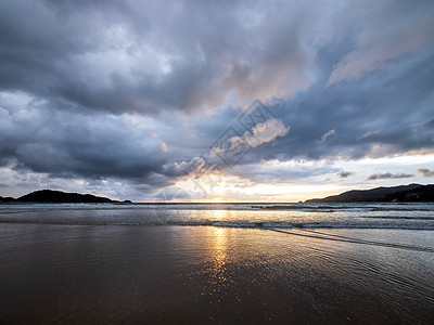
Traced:
<path id="1" fill-rule="evenodd" d="M 353 190 L 339 195 L 306 200 L 306 203 L 354 202 L 434 202 L 434 185 L 409 184 L 372 190 Z"/>

